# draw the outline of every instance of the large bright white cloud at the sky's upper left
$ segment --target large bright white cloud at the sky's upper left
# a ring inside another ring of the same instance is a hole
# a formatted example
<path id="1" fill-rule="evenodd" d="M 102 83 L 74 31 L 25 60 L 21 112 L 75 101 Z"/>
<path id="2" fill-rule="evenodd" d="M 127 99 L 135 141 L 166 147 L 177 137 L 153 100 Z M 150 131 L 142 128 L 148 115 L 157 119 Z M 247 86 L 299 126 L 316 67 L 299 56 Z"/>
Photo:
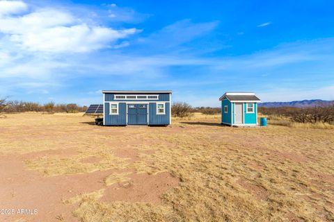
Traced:
<path id="1" fill-rule="evenodd" d="M 6 35 L 0 41 L 8 41 L 8 44 L 15 44 L 26 51 L 89 52 L 118 45 L 118 40 L 136 31 L 136 28 L 116 30 L 88 24 L 69 12 L 51 8 L 39 8 L 25 15 L 0 17 L 0 32 Z"/>

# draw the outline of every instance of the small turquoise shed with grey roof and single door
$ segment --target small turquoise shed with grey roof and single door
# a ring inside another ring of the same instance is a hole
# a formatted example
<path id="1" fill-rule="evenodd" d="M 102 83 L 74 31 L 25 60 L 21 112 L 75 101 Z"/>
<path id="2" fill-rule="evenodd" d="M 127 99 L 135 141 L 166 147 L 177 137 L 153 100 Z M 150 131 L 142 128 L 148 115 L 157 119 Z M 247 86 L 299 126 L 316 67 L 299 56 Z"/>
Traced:
<path id="1" fill-rule="evenodd" d="M 221 101 L 221 123 L 229 126 L 257 126 L 257 103 L 253 92 L 226 92 Z"/>

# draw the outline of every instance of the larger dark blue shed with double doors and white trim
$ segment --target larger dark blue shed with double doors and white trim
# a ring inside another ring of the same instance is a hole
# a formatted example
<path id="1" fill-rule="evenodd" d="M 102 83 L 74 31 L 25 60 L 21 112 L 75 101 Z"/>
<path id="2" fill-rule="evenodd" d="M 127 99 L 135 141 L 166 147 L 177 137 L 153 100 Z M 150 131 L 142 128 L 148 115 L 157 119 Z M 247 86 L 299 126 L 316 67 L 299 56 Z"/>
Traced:
<path id="1" fill-rule="evenodd" d="M 171 91 L 103 90 L 103 125 L 170 125 Z"/>

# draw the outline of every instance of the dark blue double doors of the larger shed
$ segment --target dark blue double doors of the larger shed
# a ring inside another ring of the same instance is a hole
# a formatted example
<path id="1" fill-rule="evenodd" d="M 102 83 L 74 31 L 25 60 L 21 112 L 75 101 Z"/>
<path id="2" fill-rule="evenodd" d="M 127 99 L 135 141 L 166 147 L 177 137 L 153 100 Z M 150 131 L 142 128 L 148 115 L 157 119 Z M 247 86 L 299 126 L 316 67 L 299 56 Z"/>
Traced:
<path id="1" fill-rule="evenodd" d="M 127 104 L 127 124 L 147 125 L 148 104 Z"/>

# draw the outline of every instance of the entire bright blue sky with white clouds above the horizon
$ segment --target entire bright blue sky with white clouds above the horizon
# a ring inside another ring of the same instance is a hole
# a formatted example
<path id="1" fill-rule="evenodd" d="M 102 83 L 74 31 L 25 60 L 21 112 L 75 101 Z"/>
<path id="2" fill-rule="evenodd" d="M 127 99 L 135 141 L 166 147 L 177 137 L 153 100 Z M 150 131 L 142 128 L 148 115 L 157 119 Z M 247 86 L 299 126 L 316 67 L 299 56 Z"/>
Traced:
<path id="1" fill-rule="evenodd" d="M 0 96 L 102 102 L 173 90 L 218 106 L 334 99 L 334 1 L 0 1 Z"/>

